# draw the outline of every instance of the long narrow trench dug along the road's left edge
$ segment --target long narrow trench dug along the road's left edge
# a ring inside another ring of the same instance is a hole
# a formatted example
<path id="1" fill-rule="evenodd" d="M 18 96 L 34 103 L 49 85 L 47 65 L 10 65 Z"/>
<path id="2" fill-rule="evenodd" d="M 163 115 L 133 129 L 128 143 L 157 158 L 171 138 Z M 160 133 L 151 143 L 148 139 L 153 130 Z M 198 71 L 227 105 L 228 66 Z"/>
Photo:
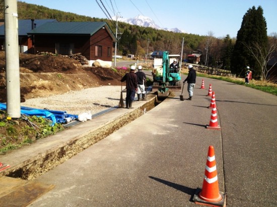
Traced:
<path id="1" fill-rule="evenodd" d="M 43 155 L 37 155 L 37 157 L 32 158 L 32 161 L 31 159 L 27 160 L 21 167 L 14 169 L 11 172 L 8 171 L 5 176 L 24 180 L 34 180 L 47 171 L 62 164 L 66 160 L 71 159 L 73 156 L 77 155 L 93 144 L 111 135 L 125 125 L 131 123 L 138 117 L 141 117 L 145 113 L 155 108 L 165 99 L 158 99 L 157 96 L 154 97 L 155 98 L 147 101 L 140 108 L 126 113 L 125 115 L 115 119 L 113 122 L 103 126 L 102 128 L 92 131 L 83 137 L 78 137 L 67 143 L 64 143 L 64 146 L 49 150 Z"/>

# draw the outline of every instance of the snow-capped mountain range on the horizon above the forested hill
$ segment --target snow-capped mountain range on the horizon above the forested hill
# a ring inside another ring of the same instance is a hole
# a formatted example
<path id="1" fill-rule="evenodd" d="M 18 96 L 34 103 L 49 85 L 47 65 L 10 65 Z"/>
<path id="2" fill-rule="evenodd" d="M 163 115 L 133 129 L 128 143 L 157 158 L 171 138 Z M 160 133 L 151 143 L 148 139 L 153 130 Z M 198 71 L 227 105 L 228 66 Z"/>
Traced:
<path id="1" fill-rule="evenodd" d="M 112 19 L 116 21 L 116 17 L 113 17 Z M 166 30 L 166 31 L 171 31 L 171 32 L 176 32 L 176 33 L 187 33 L 186 31 L 179 30 L 178 28 L 171 28 L 171 29 L 161 28 L 159 25 L 157 25 L 154 22 L 154 20 L 152 20 L 149 17 L 142 16 L 142 15 L 137 15 L 134 18 L 128 18 L 128 19 L 118 17 L 117 20 L 119 22 L 124 22 L 124 23 L 130 24 L 130 25 L 137 25 L 137 26 L 141 26 L 141 27 L 151 27 L 151 28 L 154 28 L 157 30 Z"/>

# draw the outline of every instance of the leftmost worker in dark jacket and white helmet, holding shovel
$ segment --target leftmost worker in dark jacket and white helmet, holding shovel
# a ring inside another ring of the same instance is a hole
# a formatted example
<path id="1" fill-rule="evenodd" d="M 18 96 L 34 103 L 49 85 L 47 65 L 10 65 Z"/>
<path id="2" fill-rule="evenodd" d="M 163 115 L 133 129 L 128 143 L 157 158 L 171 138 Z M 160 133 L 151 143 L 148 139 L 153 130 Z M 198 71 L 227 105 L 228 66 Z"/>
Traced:
<path id="1" fill-rule="evenodd" d="M 132 102 L 137 91 L 137 78 L 134 71 L 135 66 L 132 65 L 130 72 L 126 73 L 121 79 L 121 82 L 126 81 L 126 109 L 133 109 Z"/>

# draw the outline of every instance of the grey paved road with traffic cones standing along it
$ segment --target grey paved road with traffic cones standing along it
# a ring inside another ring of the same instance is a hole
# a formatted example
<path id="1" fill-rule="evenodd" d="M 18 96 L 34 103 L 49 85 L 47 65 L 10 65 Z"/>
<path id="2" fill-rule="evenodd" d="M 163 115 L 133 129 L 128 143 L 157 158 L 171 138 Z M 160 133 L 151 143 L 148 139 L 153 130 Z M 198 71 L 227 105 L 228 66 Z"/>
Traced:
<path id="1" fill-rule="evenodd" d="M 191 197 L 202 187 L 210 145 L 227 206 L 277 206 L 277 96 L 203 79 L 206 89 L 198 77 L 192 101 L 167 98 L 37 178 L 55 188 L 30 206 L 197 206 Z M 209 84 L 220 131 L 205 129 Z"/>

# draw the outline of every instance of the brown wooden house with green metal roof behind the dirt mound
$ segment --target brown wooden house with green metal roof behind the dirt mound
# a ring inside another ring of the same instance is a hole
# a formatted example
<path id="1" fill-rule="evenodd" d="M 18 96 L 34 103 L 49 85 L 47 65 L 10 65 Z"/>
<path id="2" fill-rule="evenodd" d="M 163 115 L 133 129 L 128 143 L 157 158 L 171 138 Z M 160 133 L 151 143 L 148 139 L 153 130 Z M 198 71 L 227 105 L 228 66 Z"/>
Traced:
<path id="1" fill-rule="evenodd" d="M 33 53 L 69 55 L 81 53 L 90 64 L 100 59 L 112 63 L 116 38 L 105 22 L 49 22 L 28 32 L 33 37 Z"/>

